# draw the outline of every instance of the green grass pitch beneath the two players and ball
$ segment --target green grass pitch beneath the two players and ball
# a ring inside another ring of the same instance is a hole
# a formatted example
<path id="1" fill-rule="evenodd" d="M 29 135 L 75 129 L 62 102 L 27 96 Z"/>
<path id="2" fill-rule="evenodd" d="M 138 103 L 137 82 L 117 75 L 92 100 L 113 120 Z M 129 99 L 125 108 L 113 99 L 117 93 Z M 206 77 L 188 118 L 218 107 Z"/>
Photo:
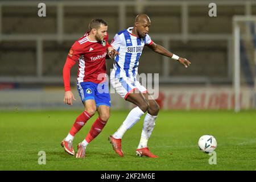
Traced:
<path id="1" fill-rule="evenodd" d="M 82 111 L 82 110 L 81 110 Z M 135 155 L 143 118 L 122 139 L 120 158 L 108 141 L 129 111 L 112 111 L 104 130 L 76 159 L 60 146 L 81 111 L 0 111 L 0 170 L 256 170 L 256 112 L 160 111 L 148 142 L 158 159 Z M 81 142 L 98 115 L 76 135 Z M 197 147 L 204 134 L 217 139 L 217 164 Z M 39 165 L 39 151 L 46 164 Z"/>

